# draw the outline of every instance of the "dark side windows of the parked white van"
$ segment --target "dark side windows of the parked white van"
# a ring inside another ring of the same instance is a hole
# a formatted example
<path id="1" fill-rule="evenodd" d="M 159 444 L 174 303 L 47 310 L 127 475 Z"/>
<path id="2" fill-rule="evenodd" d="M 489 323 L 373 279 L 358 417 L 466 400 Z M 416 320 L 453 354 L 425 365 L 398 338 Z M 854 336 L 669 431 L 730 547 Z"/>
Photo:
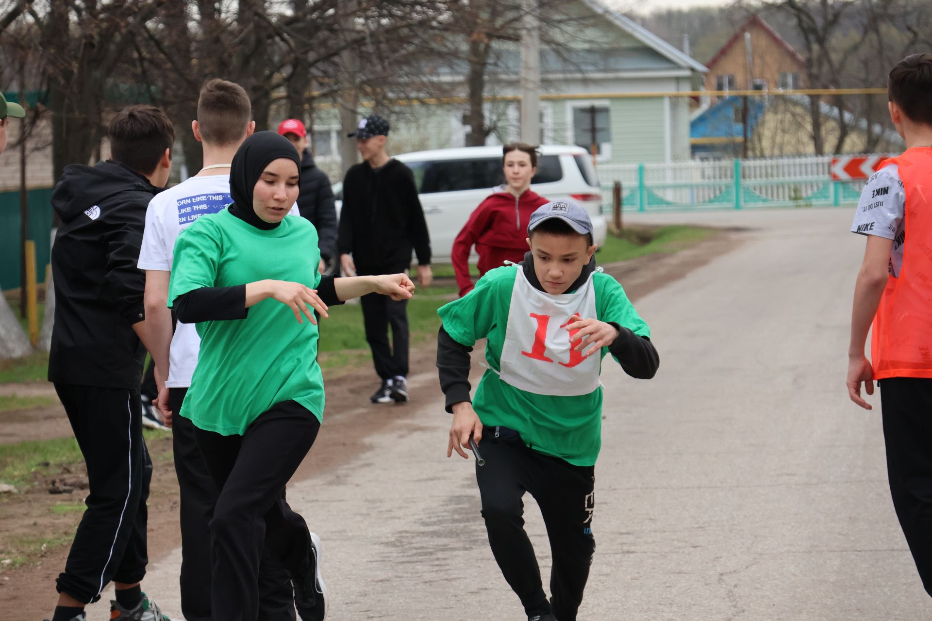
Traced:
<path id="1" fill-rule="evenodd" d="M 404 162 L 414 173 L 419 194 L 490 190 L 505 181 L 500 157 L 425 160 Z M 531 183 L 558 182 L 563 179 L 558 155 L 544 155 L 538 161 L 537 174 Z"/>

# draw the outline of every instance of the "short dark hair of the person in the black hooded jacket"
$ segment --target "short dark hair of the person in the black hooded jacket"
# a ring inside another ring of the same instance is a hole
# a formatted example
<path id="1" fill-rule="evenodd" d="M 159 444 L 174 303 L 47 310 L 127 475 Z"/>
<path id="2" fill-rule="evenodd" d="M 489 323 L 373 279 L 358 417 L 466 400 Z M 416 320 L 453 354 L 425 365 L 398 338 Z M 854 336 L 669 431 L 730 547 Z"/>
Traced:
<path id="1" fill-rule="evenodd" d="M 154 105 L 131 105 L 119 111 L 107 129 L 110 157 L 144 175 L 155 171 L 158 160 L 174 144 L 174 128 Z"/>

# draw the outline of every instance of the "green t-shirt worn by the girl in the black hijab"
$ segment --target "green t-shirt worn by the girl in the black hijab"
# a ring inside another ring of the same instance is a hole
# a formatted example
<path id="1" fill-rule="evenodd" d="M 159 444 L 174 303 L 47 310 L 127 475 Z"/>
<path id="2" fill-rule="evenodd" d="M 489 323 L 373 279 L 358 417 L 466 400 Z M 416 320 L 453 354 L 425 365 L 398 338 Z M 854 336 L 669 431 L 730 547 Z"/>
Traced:
<path id="1" fill-rule="evenodd" d="M 321 281 L 317 231 L 304 218 L 286 217 L 264 231 L 224 209 L 201 216 L 175 242 L 169 305 L 201 287 L 232 287 L 267 278 Z M 317 364 L 317 326 L 267 298 L 244 319 L 204 321 L 198 366 L 179 412 L 200 429 L 242 435 L 276 403 L 294 399 L 323 414 L 323 378 Z"/>

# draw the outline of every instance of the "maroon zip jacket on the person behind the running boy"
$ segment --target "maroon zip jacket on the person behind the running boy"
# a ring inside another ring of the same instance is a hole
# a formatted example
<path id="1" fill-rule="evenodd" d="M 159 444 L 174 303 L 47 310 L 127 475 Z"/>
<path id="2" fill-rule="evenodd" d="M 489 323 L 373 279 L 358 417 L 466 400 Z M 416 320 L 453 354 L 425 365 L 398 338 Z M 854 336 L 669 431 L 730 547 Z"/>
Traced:
<path id="1" fill-rule="evenodd" d="M 528 251 L 528 221 L 535 209 L 549 201 L 530 190 L 519 197 L 496 192 L 479 204 L 453 242 L 451 259 L 457 275 L 459 297 L 473 290 L 469 255 L 475 246 L 479 277 L 504 262 L 519 263 Z"/>

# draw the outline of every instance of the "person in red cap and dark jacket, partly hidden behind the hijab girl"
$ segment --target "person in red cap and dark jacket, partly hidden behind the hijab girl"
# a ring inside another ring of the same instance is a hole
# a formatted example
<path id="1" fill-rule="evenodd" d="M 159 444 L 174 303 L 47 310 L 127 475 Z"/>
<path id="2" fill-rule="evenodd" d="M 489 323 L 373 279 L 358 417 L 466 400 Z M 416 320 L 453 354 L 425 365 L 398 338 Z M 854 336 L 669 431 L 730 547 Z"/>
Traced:
<path id="1" fill-rule="evenodd" d="M 279 133 L 291 141 L 301 155 L 301 187 L 297 209 L 317 229 L 317 247 L 321 249 L 321 274 L 336 259 L 336 207 L 334 189 L 327 173 L 317 168 L 308 150 L 308 129 L 296 118 L 279 124 Z"/>

